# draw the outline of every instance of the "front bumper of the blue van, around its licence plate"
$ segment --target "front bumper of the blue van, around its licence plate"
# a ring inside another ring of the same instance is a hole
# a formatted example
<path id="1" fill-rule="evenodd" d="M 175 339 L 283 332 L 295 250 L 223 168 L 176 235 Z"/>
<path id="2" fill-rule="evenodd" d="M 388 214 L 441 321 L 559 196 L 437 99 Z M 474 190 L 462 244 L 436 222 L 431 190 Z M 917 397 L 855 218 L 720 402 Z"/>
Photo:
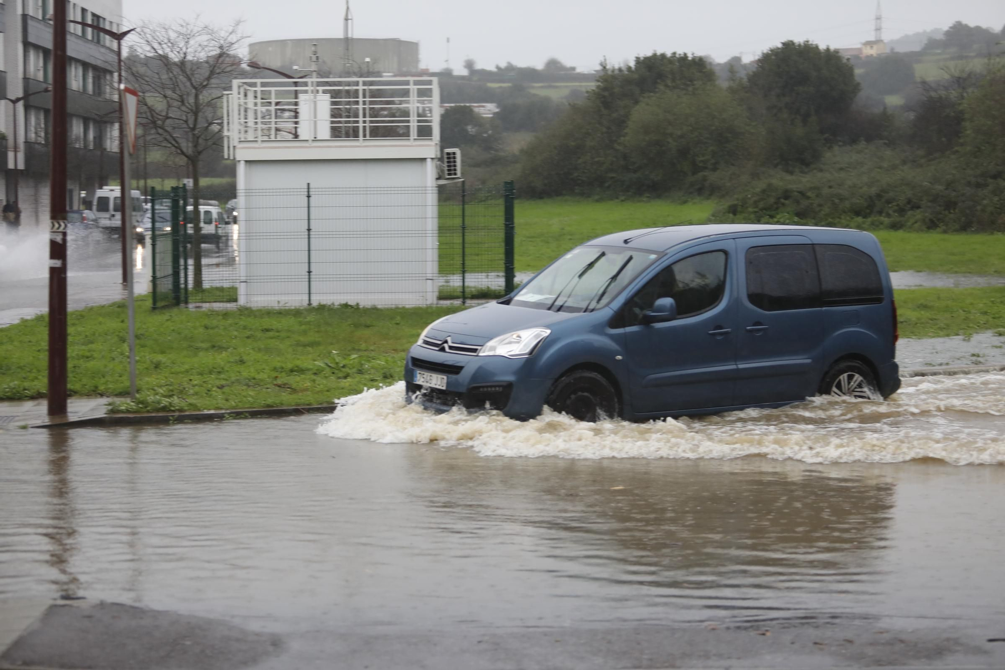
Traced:
<path id="1" fill-rule="evenodd" d="M 553 379 L 526 374 L 528 358 L 464 356 L 412 345 L 405 358 L 405 400 L 433 411 L 461 406 L 472 411 L 498 409 L 511 418 L 534 418 L 541 413 Z M 415 383 L 415 371 L 442 374 L 446 388 Z"/>

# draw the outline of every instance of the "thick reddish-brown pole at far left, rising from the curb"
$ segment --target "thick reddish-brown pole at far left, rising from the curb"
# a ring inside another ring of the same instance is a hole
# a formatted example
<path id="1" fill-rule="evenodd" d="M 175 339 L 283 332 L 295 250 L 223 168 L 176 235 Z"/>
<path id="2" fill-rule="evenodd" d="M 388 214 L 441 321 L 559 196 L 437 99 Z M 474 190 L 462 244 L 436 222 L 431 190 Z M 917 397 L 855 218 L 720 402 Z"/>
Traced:
<path id="1" fill-rule="evenodd" d="M 49 145 L 48 413 L 66 413 L 66 0 L 52 16 L 52 132 Z"/>

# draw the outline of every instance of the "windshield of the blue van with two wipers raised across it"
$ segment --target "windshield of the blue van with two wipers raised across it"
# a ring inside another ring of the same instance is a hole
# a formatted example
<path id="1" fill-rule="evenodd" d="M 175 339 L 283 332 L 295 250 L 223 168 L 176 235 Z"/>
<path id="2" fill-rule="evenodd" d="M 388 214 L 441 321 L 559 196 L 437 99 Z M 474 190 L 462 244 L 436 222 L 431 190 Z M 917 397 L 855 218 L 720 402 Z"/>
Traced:
<path id="1" fill-rule="evenodd" d="M 624 246 L 578 246 L 522 286 L 511 305 L 592 312 L 611 302 L 659 256 Z"/>

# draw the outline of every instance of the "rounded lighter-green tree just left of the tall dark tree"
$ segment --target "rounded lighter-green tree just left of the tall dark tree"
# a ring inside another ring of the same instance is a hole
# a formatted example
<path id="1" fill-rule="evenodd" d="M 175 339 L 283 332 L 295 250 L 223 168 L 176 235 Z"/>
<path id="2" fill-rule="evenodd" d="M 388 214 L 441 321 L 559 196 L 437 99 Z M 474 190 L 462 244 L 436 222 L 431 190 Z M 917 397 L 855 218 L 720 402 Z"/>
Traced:
<path id="1" fill-rule="evenodd" d="M 718 85 L 646 96 L 623 140 L 636 187 L 665 192 L 700 172 L 743 162 L 755 130 L 744 108 Z"/>

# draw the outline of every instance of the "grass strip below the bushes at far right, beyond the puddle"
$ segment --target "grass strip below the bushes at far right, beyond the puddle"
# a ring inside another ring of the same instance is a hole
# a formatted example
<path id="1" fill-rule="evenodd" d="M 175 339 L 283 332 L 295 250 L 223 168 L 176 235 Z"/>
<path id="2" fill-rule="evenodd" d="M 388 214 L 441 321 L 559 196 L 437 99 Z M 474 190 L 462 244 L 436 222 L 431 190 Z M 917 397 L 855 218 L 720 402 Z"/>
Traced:
<path id="1" fill-rule="evenodd" d="M 1005 234 L 872 230 L 891 272 L 1005 275 Z"/>

